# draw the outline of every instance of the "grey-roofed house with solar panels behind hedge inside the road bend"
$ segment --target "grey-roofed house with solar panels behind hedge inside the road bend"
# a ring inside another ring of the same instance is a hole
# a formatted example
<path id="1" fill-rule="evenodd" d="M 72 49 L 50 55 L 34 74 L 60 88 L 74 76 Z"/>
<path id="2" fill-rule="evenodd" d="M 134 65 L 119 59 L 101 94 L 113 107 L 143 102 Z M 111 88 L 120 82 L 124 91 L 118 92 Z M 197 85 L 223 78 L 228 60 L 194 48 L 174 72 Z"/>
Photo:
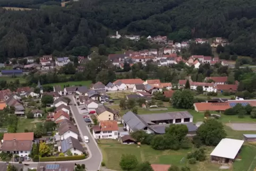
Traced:
<path id="1" fill-rule="evenodd" d="M 71 151 L 72 155 L 82 155 L 84 151 L 80 142 L 72 136 L 61 141 L 61 146 L 58 147 L 58 151 L 63 152 L 65 155 L 69 150 Z"/>

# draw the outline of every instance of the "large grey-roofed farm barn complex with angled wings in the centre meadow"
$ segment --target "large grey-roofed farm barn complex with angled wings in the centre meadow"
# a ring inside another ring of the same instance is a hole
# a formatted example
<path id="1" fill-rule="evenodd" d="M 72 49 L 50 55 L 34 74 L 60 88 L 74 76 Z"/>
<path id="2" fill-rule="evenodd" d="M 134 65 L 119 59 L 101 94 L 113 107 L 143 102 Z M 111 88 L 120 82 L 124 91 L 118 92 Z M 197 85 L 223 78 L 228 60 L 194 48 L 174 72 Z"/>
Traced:
<path id="1" fill-rule="evenodd" d="M 147 133 L 164 134 L 170 124 L 185 124 L 189 135 L 194 135 L 197 126 L 193 124 L 193 116 L 187 112 L 166 112 L 158 114 L 137 115 L 129 111 L 122 117 L 124 129 L 129 132 L 143 130 Z"/>

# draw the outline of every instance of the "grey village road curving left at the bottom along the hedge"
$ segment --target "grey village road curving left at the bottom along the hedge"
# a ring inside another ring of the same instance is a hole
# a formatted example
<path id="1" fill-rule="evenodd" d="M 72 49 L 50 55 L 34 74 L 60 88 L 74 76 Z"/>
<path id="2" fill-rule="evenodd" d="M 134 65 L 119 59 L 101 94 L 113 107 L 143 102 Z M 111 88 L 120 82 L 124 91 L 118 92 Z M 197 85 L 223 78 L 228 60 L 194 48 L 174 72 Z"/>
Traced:
<path id="1" fill-rule="evenodd" d="M 83 139 L 84 135 L 87 135 L 89 138 L 89 143 L 86 143 L 86 147 L 89 151 L 89 157 L 84 160 L 72 160 L 72 161 L 57 161 L 58 163 L 76 163 L 76 164 L 84 164 L 86 165 L 86 168 L 88 171 L 97 171 L 100 170 L 101 161 L 102 161 L 102 154 L 100 149 L 98 148 L 97 142 L 93 138 L 92 134 L 90 133 L 90 130 L 88 128 L 88 124 L 84 122 L 83 115 L 79 113 L 78 105 L 76 104 L 76 101 L 73 96 L 69 96 L 71 99 L 71 112 L 73 114 L 73 118 L 75 119 L 75 123 L 78 126 L 78 130 L 80 133 L 81 138 Z M 73 104 L 76 104 L 74 106 Z M 16 163 L 10 161 L 9 163 Z M 47 162 L 47 163 L 56 163 L 56 162 Z M 37 162 L 32 161 L 24 161 L 23 164 L 28 164 L 29 166 L 24 165 L 24 171 L 27 171 L 28 168 L 37 168 Z"/>

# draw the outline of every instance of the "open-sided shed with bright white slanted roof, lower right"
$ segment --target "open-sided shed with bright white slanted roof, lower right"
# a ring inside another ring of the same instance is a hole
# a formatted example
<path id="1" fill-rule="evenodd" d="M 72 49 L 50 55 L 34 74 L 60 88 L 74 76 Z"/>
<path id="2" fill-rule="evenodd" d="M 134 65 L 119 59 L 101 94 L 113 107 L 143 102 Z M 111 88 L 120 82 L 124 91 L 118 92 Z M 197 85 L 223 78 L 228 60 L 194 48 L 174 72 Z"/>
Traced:
<path id="1" fill-rule="evenodd" d="M 218 146 L 211 152 L 211 161 L 222 164 L 231 164 L 244 143 L 244 140 L 222 139 Z"/>

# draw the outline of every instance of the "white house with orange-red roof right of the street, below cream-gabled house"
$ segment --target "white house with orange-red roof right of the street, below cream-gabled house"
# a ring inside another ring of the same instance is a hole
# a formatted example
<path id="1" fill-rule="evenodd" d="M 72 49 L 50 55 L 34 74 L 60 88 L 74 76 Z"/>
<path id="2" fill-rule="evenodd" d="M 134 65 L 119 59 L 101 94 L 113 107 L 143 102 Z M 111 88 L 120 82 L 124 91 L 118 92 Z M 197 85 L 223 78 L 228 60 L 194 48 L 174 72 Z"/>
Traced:
<path id="1" fill-rule="evenodd" d="M 95 139 L 118 139 L 117 121 L 100 121 L 92 127 L 92 135 Z"/>

